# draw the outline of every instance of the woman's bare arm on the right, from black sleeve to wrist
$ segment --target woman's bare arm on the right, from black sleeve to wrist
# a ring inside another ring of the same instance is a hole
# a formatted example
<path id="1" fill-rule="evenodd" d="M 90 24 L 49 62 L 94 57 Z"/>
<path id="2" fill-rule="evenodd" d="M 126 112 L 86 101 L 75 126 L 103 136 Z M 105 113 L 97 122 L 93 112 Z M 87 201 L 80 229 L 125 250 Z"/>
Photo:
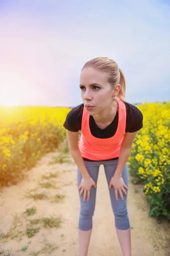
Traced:
<path id="1" fill-rule="evenodd" d="M 127 132 L 123 138 L 122 145 L 119 153 L 119 160 L 116 167 L 116 171 L 114 173 L 114 177 L 122 177 L 122 172 L 125 167 L 126 161 L 130 156 L 130 152 L 133 145 L 133 140 L 136 137 L 138 131 L 135 132 Z"/>

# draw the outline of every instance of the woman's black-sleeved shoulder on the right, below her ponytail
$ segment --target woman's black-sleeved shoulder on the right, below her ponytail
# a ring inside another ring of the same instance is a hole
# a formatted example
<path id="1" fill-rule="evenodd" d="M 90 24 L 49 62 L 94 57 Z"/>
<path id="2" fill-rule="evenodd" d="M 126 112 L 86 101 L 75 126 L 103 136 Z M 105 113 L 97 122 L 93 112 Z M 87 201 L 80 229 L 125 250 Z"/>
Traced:
<path id="1" fill-rule="evenodd" d="M 126 132 L 139 131 L 143 127 L 143 114 L 135 105 L 125 102 L 126 106 Z"/>

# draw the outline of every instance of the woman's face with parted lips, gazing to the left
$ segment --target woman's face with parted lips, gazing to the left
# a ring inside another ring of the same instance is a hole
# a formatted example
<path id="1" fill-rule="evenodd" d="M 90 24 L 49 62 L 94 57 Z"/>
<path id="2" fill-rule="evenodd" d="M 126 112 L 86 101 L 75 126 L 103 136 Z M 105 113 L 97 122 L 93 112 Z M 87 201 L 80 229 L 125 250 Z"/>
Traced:
<path id="1" fill-rule="evenodd" d="M 108 83 L 108 74 L 85 68 L 80 74 L 81 96 L 84 105 L 91 105 L 93 108 L 86 108 L 90 115 L 108 110 L 113 105 L 113 98 L 117 96 L 120 85 L 113 90 Z"/>

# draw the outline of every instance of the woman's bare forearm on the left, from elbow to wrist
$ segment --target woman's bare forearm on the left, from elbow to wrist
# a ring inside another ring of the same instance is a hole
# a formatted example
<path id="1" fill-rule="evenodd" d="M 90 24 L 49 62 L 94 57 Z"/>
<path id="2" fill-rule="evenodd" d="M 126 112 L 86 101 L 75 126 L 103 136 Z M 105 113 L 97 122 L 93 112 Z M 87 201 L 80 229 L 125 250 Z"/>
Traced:
<path id="1" fill-rule="evenodd" d="M 85 163 L 83 161 L 83 158 L 82 158 L 82 155 L 81 155 L 81 152 L 79 150 L 79 148 L 77 149 L 71 149 L 70 150 L 70 153 L 74 159 L 74 162 L 77 164 L 77 167 L 79 168 L 81 174 L 82 174 L 82 177 L 83 178 L 88 178 L 90 177 L 89 173 L 88 173 L 88 170 L 85 166 Z"/>

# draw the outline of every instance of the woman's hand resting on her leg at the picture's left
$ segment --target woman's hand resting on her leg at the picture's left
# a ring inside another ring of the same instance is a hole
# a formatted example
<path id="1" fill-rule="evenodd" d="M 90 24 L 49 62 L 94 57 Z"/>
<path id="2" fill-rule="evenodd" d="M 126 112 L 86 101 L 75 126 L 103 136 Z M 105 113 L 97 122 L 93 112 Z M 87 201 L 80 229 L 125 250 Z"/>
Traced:
<path id="1" fill-rule="evenodd" d="M 81 183 L 79 185 L 79 190 L 80 191 L 80 196 L 82 196 L 83 194 L 83 201 L 85 201 L 86 196 L 87 196 L 87 200 L 90 200 L 90 191 L 91 191 L 91 187 L 94 186 L 94 188 L 96 189 L 96 183 L 94 182 L 94 180 L 92 179 L 92 177 L 88 177 L 88 178 L 82 178 Z"/>

